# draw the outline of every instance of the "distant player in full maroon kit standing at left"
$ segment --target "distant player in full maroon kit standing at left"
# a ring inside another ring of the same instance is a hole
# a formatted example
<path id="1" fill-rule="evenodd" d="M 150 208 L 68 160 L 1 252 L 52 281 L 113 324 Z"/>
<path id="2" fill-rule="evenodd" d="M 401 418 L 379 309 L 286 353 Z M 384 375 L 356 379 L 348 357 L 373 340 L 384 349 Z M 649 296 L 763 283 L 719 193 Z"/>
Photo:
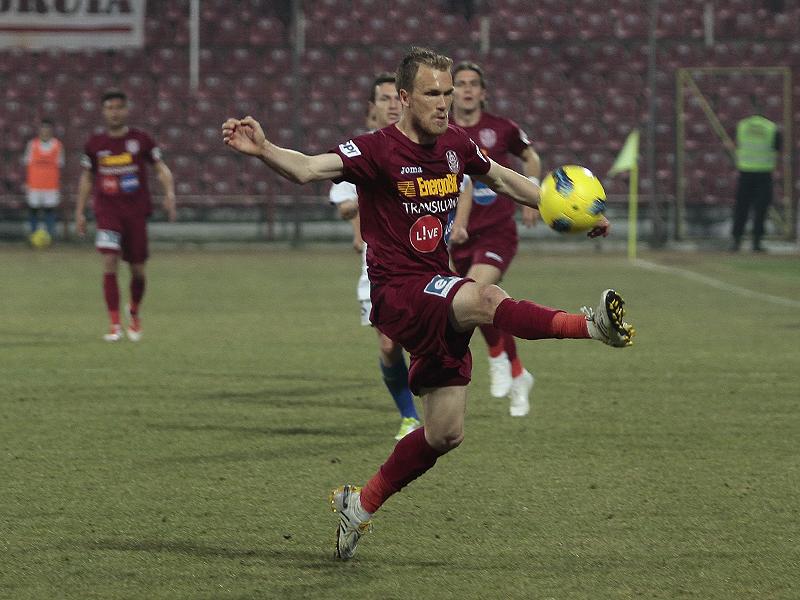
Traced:
<path id="1" fill-rule="evenodd" d="M 147 164 L 152 164 L 164 191 L 164 211 L 175 220 L 175 186 L 161 160 L 161 150 L 144 131 L 128 127 L 128 98 L 119 90 L 103 94 L 106 131 L 89 138 L 81 157 L 84 168 L 78 183 L 75 224 L 86 234 L 86 201 L 91 194 L 97 222 L 95 246 L 103 255 L 103 293 L 111 327 L 103 336 L 108 342 L 122 339 L 117 269 L 119 258 L 130 264 L 128 338 L 139 341 L 142 325 L 139 304 L 144 296 L 145 262 L 148 257 L 147 218 L 152 212 L 147 186 Z"/>

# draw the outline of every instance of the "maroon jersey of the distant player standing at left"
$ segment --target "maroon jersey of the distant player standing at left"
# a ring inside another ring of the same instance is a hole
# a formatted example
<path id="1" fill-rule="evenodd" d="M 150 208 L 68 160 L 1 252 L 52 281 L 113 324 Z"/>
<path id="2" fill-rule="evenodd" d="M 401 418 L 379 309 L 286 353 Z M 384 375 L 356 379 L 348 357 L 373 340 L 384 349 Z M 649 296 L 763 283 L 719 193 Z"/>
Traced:
<path id="1" fill-rule="evenodd" d="M 95 214 L 124 212 L 149 215 L 152 211 L 147 188 L 147 163 L 161 160 L 161 150 L 149 135 L 128 129 L 122 137 L 98 133 L 89 138 L 81 166 L 94 176 Z"/>

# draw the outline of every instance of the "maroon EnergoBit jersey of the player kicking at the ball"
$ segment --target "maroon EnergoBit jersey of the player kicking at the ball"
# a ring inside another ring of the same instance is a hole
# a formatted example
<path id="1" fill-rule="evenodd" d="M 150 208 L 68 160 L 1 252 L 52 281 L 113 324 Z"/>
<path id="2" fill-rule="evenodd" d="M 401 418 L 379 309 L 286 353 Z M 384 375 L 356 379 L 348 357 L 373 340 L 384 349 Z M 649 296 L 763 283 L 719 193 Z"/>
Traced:
<path id="1" fill-rule="evenodd" d="M 489 161 L 463 129 L 453 125 L 421 145 L 395 125 L 334 148 L 344 172 L 338 181 L 358 188 L 361 235 L 369 279 L 449 273 L 447 238 L 464 173 L 483 175 Z"/>

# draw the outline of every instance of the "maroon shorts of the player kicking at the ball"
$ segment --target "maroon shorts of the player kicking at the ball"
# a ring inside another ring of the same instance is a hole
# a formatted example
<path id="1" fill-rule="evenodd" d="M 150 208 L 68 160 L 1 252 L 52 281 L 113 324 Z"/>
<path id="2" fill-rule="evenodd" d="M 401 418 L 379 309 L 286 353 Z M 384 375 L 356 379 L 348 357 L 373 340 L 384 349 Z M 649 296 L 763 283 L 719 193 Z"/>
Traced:
<path id="1" fill-rule="evenodd" d="M 467 385 L 472 377 L 472 330 L 460 333 L 450 323 L 453 297 L 468 281 L 429 273 L 372 288 L 370 320 L 408 350 L 408 386 L 417 396 L 425 388 Z"/>

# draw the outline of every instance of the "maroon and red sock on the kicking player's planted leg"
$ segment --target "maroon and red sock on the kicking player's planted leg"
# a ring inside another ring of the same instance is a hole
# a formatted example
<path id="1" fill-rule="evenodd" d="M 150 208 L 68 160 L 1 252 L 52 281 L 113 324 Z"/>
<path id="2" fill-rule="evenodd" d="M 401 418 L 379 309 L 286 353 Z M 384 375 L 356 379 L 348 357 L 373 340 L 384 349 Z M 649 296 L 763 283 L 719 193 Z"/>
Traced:
<path id="1" fill-rule="evenodd" d="M 367 512 L 375 512 L 389 496 L 435 465 L 441 455 L 425 439 L 425 428 L 415 429 L 397 442 L 389 458 L 361 490 L 361 506 Z"/>

